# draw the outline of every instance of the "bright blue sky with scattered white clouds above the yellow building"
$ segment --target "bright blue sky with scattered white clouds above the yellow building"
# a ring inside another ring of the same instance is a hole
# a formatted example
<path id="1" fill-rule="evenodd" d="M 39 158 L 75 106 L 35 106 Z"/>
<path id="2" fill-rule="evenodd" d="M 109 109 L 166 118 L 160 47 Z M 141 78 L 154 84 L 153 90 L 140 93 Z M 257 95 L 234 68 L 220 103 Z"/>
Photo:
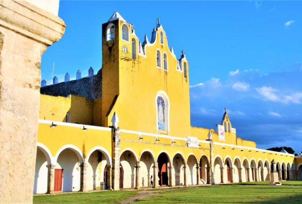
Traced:
<path id="1" fill-rule="evenodd" d="M 118 11 L 143 41 L 161 18 L 189 61 L 191 124 L 215 128 L 227 107 L 237 136 L 302 151 L 302 1 L 60 1 L 67 28 L 42 55 L 42 79 L 101 68 L 101 24 Z"/>

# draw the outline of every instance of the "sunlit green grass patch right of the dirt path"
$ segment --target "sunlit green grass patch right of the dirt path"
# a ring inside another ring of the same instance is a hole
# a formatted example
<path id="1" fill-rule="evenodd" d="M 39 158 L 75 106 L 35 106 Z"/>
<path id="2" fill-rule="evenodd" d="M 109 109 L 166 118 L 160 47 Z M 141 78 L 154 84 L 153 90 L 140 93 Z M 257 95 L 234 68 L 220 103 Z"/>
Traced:
<path id="1" fill-rule="evenodd" d="M 221 185 L 178 188 L 140 203 L 302 203 L 302 187 Z"/>

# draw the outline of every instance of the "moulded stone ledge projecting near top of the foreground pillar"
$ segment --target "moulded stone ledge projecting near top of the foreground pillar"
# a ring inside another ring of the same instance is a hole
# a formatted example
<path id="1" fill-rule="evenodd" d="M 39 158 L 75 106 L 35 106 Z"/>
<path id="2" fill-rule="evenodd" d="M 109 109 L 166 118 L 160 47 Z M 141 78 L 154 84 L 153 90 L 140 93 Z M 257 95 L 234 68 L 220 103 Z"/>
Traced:
<path id="1" fill-rule="evenodd" d="M 64 21 L 26 1 L 0 0 L 0 26 L 46 46 L 61 39 Z"/>

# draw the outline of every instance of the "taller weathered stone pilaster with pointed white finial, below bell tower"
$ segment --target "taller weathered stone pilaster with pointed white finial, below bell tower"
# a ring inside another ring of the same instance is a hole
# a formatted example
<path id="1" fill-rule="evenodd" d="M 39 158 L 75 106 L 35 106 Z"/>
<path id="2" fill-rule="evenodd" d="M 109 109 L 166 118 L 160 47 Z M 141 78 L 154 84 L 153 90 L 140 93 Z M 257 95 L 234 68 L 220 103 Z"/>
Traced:
<path id="1" fill-rule="evenodd" d="M 112 128 L 112 182 L 111 186 L 113 190 L 119 190 L 119 151 L 120 151 L 120 131 L 117 127 L 117 114 L 114 113 L 112 118 L 113 126 Z"/>

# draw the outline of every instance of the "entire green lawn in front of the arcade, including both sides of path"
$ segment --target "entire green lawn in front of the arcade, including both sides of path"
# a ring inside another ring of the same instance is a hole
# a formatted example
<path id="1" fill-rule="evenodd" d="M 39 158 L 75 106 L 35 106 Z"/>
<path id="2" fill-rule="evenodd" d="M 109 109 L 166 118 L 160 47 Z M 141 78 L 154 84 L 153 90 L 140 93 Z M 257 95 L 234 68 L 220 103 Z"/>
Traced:
<path id="1" fill-rule="evenodd" d="M 34 203 L 120 203 L 131 197 L 151 193 L 139 203 L 302 203 L 302 181 L 282 182 L 282 186 L 268 186 L 268 182 L 251 182 L 209 187 L 159 188 L 141 191 L 102 191 L 34 196 Z M 139 196 L 138 196 L 139 197 Z M 135 199 L 134 199 L 135 200 Z"/>

